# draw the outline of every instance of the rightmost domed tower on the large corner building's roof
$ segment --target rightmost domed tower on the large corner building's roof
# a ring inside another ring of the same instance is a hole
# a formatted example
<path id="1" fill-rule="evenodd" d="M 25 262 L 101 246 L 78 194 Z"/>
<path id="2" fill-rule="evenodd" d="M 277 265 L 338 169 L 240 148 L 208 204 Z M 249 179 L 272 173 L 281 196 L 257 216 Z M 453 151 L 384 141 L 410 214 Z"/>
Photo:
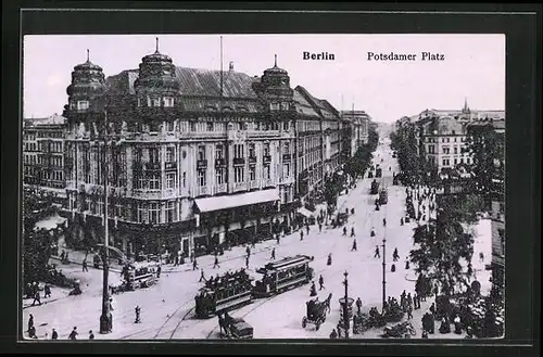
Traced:
<path id="1" fill-rule="evenodd" d="M 274 66 L 264 71 L 261 81 L 254 84 L 254 90 L 265 100 L 270 111 L 288 111 L 292 107 L 294 91 L 290 88 L 287 71 L 277 66 L 277 54 Z"/>

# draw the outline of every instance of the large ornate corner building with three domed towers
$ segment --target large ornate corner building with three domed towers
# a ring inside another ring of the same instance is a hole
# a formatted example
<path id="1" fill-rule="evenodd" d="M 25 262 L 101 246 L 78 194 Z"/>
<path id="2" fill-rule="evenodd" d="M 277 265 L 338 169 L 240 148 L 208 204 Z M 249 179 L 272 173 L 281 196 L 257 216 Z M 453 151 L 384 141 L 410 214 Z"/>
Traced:
<path id="1" fill-rule="evenodd" d="M 74 245 L 103 239 L 104 167 L 113 245 L 198 255 L 287 230 L 304 175 L 311 191 L 341 164 L 339 113 L 292 89 L 277 60 L 250 77 L 178 67 L 156 49 L 109 78 L 75 66 L 67 94 Z"/>

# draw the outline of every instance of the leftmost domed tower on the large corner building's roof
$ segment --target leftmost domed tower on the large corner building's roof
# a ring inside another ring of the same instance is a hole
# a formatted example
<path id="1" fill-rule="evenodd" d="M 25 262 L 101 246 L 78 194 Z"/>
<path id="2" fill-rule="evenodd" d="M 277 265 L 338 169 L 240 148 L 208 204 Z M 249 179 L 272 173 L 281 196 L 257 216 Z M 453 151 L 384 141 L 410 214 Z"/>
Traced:
<path id="1" fill-rule="evenodd" d="M 64 116 L 73 120 L 87 118 L 101 113 L 104 106 L 105 77 L 102 67 L 89 60 L 78 64 L 72 72 L 72 84 L 66 88 L 68 104 L 64 106 Z"/>

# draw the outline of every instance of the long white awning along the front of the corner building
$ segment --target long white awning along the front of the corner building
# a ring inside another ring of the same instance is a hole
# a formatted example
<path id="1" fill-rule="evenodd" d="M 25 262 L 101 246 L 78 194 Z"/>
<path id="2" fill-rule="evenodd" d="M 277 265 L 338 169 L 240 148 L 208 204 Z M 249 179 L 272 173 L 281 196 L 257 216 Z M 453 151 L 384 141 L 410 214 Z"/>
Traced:
<path id="1" fill-rule="evenodd" d="M 277 189 L 269 189 L 217 197 L 195 199 L 194 202 L 200 212 L 204 213 L 278 200 L 279 191 Z"/>

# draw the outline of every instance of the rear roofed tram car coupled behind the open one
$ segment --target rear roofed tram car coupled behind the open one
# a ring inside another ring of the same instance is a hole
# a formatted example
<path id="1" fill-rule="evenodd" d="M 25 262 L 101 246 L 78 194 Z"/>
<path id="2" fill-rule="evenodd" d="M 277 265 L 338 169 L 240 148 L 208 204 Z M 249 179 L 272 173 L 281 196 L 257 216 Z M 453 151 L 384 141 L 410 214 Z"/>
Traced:
<path id="1" fill-rule="evenodd" d="M 265 297 L 308 283 L 313 279 L 313 257 L 296 255 L 266 264 L 256 270 L 264 277 L 256 281 L 254 296 Z"/>

